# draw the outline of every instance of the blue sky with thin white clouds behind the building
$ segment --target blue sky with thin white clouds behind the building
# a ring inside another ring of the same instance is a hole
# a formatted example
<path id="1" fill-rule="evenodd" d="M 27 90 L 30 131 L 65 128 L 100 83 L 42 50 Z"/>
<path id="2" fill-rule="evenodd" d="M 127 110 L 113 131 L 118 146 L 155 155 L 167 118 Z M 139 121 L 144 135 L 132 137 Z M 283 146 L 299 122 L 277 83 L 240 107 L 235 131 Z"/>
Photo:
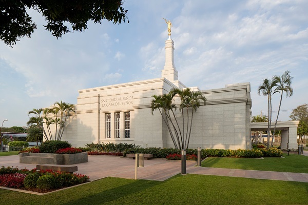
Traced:
<path id="1" fill-rule="evenodd" d="M 257 115 L 267 111 L 267 97 L 257 94 L 262 79 L 290 70 L 294 95 L 284 95 L 279 120 L 308 103 L 308 1 L 127 0 L 124 8 L 129 24 L 90 22 L 85 32 L 60 39 L 30 11 L 32 37 L 13 48 L 0 42 L 0 123 L 26 126 L 33 108 L 76 104 L 81 89 L 161 77 L 168 38 L 162 18 L 173 25 L 175 67 L 187 87 L 249 82 Z M 273 111 L 279 98 L 273 96 Z"/>

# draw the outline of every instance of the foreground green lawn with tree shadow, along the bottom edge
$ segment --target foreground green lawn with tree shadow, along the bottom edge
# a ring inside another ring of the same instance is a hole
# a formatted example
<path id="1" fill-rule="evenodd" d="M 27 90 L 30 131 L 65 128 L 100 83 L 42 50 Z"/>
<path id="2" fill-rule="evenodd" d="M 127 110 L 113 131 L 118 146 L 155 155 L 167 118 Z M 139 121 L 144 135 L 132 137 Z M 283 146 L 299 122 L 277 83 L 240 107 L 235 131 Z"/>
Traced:
<path id="1" fill-rule="evenodd" d="M 37 196 L 0 190 L 0 204 L 305 204 L 308 183 L 208 175 L 166 181 L 107 177 Z"/>

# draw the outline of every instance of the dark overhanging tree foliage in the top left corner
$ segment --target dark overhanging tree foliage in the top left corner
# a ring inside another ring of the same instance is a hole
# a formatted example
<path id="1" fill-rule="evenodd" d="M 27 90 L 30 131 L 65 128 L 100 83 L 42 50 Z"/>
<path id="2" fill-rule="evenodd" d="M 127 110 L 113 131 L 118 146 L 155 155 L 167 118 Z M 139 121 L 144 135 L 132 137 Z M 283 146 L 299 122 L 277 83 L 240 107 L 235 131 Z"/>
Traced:
<path id="1" fill-rule="evenodd" d="M 85 31 L 87 23 L 102 24 L 102 20 L 121 24 L 127 18 L 122 0 L 0 0 L 0 37 L 8 46 L 20 37 L 30 37 L 36 24 L 28 14 L 30 9 L 41 13 L 56 38 L 72 31 Z M 128 21 L 129 23 L 129 21 Z"/>

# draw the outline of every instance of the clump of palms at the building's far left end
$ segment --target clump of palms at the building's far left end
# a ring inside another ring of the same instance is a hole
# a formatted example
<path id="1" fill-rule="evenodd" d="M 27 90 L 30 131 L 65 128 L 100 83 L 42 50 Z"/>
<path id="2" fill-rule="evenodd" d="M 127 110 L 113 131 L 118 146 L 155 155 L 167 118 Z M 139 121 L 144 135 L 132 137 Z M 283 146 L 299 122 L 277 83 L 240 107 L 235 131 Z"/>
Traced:
<path id="1" fill-rule="evenodd" d="M 33 109 L 29 112 L 31 116 L 27 125 L 35 125 L 43 132 L 43 137 L 48 140 L 61 140 L 66 120 L 75 114 L 75 106 L 64 102 L 55 102 L 51 108 Z M 45 126 L 44 126 L 45 125 Z M 54 129 L 52 129 L 52 126 Z"/>

